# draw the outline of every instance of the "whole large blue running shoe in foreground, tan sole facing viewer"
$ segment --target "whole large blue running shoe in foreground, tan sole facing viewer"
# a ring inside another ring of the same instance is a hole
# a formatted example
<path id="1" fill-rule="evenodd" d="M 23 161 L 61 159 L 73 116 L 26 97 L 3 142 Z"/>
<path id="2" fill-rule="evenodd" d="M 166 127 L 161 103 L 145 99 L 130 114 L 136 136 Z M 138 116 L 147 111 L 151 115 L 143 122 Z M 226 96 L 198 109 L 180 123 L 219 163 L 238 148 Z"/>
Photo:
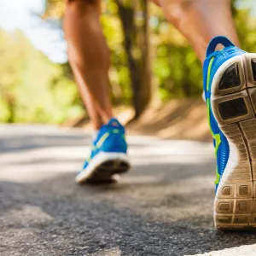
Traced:
<path id="1" fill-rule="evenodd" d="M 203 74 L 217 157 L 214 223 L 220 230 L 256 228 L 256 54 L 213 38 Z"/>

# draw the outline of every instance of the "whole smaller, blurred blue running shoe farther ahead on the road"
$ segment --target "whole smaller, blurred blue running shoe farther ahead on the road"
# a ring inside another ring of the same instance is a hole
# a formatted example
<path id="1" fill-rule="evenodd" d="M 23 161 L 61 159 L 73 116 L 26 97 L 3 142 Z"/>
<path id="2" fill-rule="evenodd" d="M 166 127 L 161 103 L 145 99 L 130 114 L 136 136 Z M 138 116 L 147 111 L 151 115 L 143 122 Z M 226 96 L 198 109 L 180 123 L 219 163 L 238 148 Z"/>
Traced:
<path id="1" fill-rule="evenodd" d="M 127 172 L 129 169 L 125 128 L 117 119 L 111 119 L 98 132 L 92 143 L 90 158 L 85 161 L 76 182 L 111 182 L 115 174 Z"/>

